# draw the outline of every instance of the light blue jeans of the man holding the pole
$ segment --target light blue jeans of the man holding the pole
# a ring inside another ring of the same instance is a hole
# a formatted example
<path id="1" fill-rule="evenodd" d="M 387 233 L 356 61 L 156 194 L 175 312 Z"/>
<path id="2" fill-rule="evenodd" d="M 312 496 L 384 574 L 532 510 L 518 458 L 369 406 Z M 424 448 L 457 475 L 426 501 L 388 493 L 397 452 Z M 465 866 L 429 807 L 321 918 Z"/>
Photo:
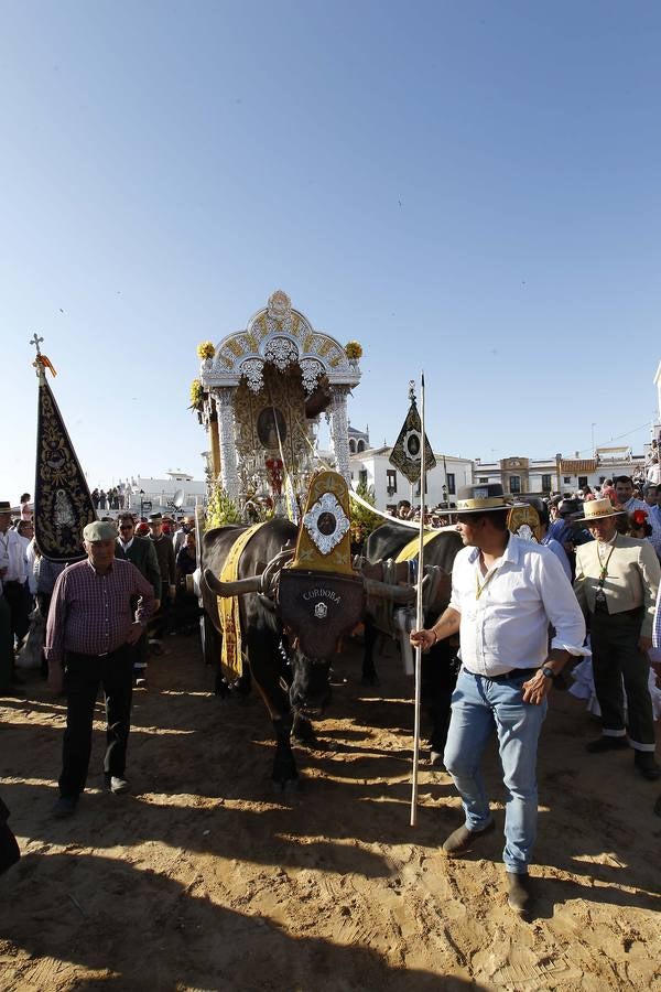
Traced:
<path id="1" fill-rule="evenodd" d="M 481 756 L 496 729 L 507 798 L 505 850 L 508 872 L 528 871 L 537 835 L 537 745 L 546 701 L 535 707 L 521 699 L 530 673 L 487 679 L 462 668 L 452 697 L 444 764 L 462 796 L 468 830 L 491 821 L 481 774 Z"/>

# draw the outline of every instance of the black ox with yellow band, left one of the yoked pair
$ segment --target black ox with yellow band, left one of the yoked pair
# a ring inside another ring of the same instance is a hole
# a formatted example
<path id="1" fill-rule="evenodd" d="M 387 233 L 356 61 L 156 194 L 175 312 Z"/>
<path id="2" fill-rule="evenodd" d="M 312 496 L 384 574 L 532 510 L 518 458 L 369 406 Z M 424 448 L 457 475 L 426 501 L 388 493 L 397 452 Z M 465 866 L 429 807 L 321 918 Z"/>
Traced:
<path id="1" fill-rule="evenodd" d="M 326 657 L 308 657 L 297 645 L 288 646 L 278 608 L 278 586 L 284 563 L 294 554 L 297 529 L 289 520 L 277 517 L 264 524 L 243 549 L 239 559 L 236 582 L 220 582 L 223 565 L 230 548 L 245 527 L 226 526 L 204 535 L 201 548 L 201 583 L 206 613 L 205 630 L 212 635 L 212 649 L 220 654 L 220 621 L 217 596 L 240 596 L 241 640 L 249 670 L 271 716 L 275 732 L 273 780 L 282 788 L 295 784 L 296 763 L 291 747 L 292 735 L 310 743 L 314 738 L 306 716 L 323 712 L 329 701 L 328 671 L 330 651 Z M 327 582 L 332 581 L 326 579 Z M 387 589 L 382 583 L 364 580 L 371 595 L 394 595 L 400 602 L 411 597 L 411 590 Z M 414 593 L 413 593 L 414 595 Z M 333 646 L 335 653 L 335 645 Z M 285 678 L 283 654 L 291 666 Z M 286 682 L 289 681 L 289 690 Z"/>

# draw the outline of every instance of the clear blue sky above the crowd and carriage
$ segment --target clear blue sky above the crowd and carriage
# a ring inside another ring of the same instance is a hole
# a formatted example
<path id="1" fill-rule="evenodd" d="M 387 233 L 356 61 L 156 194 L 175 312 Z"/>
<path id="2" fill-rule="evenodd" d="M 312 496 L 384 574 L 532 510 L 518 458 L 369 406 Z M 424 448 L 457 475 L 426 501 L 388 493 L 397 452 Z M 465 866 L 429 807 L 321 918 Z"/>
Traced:
<path id="1" fill-rule="evenodd" d="M 373 443 L 424 368 L 437 450 L 640 449 L 660 51 L 653 2 L 6 0 L 0 496 L 33 486 L 35 330 L 90 485 L 199 477 L 196 344 L 277 288 L 362 343 Z"/>

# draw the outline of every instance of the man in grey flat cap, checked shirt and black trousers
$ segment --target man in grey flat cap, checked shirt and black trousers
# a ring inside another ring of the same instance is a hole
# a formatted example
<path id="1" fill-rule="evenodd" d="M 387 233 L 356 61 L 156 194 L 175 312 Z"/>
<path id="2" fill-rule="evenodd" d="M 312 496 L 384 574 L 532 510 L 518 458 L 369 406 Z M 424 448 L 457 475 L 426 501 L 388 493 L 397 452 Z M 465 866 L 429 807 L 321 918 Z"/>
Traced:
<path id="1" fill-rule="evenodd" d="M 57 817 L 71 816 L 85 788 L 91 724 L 99 688 L 106 700 L 104 772 L 113 792 L 124 792 L 132 654 L 154 608 L 154 591 L 134 564 L 115 558 L 115 524 L 96 520 L 83 531 L 87 559 L 58 576 L 48 611 L 45 655 L 48 684 L 67 697 Z M 133 614 L 131 602 L 138 600 Z"/>

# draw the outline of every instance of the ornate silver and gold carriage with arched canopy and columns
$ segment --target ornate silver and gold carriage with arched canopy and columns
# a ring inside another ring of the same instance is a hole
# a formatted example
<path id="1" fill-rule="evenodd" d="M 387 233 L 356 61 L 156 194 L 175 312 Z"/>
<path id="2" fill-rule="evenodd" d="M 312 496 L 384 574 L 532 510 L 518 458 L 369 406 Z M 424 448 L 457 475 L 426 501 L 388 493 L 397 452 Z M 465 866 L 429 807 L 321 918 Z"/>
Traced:
<path id="1" fill-rule="evenodd" d="M 304 493 L 319 467 L 322 412 L 330 422 L 335 467 L 348 482 L 347 395 L 360 381 L 359 347 L 347 354 L 278 290 L 243 331 L 212 351 L 201 368 L 199 410 L 210 434 L 210 474 L 228 496 L 245 502 L 272 487 L 274 466 L 295 494 Z"/>

